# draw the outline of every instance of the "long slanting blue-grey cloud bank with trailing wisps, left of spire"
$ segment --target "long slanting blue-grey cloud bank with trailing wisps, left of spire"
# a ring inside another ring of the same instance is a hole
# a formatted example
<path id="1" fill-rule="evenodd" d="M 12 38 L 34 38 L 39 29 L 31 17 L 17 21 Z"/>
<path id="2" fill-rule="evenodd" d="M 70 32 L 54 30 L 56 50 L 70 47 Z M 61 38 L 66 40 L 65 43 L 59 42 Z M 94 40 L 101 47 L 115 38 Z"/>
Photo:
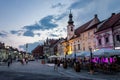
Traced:
<path id="1" fill-rule="evenodd" d="M 65 16 L 66 14 L 64 13 L 56 16 L 48 15 L 33 25 L 24 26 L 21 30 L 18 31 L 12 30 L 10 32 L 11 34 L 17 34 L 18 36 L 21 35 L 29 36 L 29 37 L 33 37 L 34 35 L 40 36 L 41 35 L 40 33 L 35 34 L 34 31 L 38 31 L 38 30 L 45 31 L 56 28 L 58 27 L 58 24 L 56 22 L 63 19 Z"/>

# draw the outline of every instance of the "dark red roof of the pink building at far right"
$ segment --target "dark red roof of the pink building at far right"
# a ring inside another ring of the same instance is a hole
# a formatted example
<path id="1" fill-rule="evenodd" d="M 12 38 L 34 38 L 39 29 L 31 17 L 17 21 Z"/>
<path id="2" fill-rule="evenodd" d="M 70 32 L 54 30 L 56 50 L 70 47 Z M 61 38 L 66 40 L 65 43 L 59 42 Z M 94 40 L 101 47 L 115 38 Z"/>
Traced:
<path id="1" fill-rule="evenodd" d="M 120 13 L 112 15 L 105 20 L 103 24 L 98 28 L 97 32 L 113 27 L 120 20 Z"/>

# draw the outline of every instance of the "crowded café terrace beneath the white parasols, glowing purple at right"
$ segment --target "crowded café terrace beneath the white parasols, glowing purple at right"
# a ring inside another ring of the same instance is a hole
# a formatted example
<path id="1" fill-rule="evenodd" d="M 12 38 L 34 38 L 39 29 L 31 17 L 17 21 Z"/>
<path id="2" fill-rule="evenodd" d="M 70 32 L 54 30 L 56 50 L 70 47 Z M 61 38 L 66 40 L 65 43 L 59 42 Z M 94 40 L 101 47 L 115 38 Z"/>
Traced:
<path id="1" fill-rule="evenodd" d="M 106 60 L 105 60 L 106 59 Z M 113 61 L 111 61 L 111 59 Z M 96 60 L 96 61 L 94 61 Z M 90 69 L 94 69 L 94 71 L 106 71 L 106 72 L 116 72 L 116 71 L 120 71 L 120 59 L 117 57 L 112 57 L 112 58 L 92 58 L 92 60 L 90 60 L 89 58 L 63 58 L 63 59 L 59 59 L 59 58 L 55 58 L 51 61 L 48 61 L 51 63 L 54 63 L 54 69 L 56 70 L 60 64 L 63 64 L 64 62 L 66 62 L 67 67 L 71 67 L 74 68 L 74 66 L 76 64 L 79 64 L 80 69 L 84 69 L 84 70 L 90 70 Z M 92 66 L 91 66 L 92 65 Z"/>

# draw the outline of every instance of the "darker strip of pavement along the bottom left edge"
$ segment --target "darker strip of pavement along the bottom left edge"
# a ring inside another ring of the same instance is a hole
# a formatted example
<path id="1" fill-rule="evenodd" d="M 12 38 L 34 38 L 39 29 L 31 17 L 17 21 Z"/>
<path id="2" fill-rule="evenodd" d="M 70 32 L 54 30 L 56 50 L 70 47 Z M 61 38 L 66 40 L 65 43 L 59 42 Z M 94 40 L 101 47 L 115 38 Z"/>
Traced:
<path id="1" fill-rule="evenodd" d="M 0 71 L 0 80 L 92 80 L 85 78 Z"/>

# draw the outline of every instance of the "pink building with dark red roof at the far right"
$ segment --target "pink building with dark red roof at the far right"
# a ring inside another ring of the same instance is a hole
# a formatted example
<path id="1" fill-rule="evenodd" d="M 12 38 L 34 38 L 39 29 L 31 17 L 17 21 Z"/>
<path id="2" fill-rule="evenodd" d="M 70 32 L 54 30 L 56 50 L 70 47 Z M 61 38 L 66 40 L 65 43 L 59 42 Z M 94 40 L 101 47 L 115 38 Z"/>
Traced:
<path id="1" fill-rule="evenodd" d="M 120 13 L 102 21 L 95 32 L 96 49 L 120 49 Z"/>

